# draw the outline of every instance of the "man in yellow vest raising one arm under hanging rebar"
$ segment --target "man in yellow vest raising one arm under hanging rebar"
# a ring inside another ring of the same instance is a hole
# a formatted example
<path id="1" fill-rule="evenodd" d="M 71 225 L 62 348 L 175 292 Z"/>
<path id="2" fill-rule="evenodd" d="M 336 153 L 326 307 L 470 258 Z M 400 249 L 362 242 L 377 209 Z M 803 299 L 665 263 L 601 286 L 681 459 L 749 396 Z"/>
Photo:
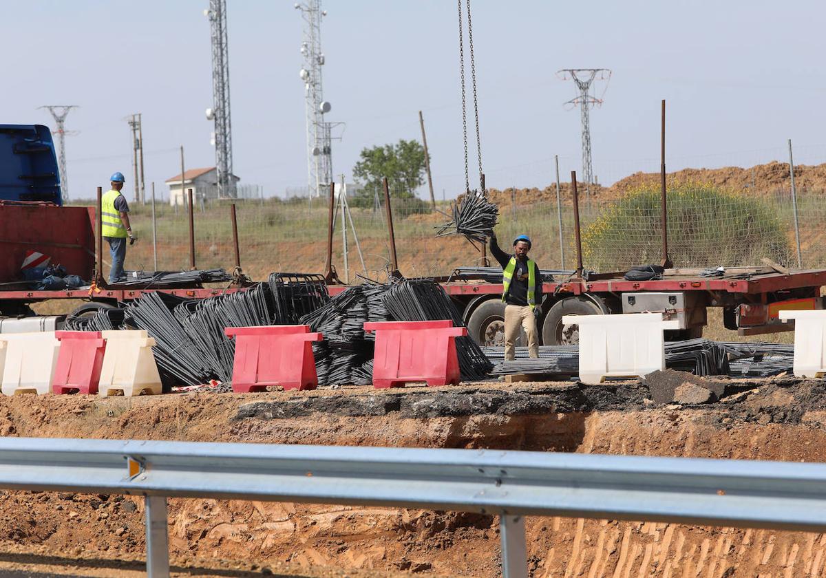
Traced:
<path id="1" fill-rule="evenodd" d="M 515 358 L 520 329 L 528 338 L 528 354 L 539 358 L 537 320 L 542 310 L 542 275 L 539 265 L 528 258 L 531 243 L 527 235 L 514 239 L 514 253 L 499 248 L 496 234 L 491 233 L 491 254 L 502 266 L 502 301 L 505 301 L 505 358 Z"/>

